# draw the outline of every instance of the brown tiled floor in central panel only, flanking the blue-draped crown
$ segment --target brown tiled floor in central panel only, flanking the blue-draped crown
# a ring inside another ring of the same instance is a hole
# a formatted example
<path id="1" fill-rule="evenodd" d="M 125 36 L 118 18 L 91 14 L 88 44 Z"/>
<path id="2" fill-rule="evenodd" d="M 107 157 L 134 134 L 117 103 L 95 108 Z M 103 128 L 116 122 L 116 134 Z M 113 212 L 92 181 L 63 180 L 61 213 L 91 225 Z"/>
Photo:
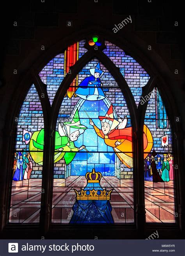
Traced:
<path id="1" fill-rule="evenodd" d="M 87 180 L 84 176 L 71 176 L 66 179 L 54 179 L 53 213 L 54 223 L 68 224 L 73 215 L 72 207 L 76 200 L 76 190 L 84 188 Z M 114 223 L 133 223 L 133 180 L 119 180 L 114 176 L 103 176 L 101 187 L 114 189 L 111 194 L 112 216 Z"/>

